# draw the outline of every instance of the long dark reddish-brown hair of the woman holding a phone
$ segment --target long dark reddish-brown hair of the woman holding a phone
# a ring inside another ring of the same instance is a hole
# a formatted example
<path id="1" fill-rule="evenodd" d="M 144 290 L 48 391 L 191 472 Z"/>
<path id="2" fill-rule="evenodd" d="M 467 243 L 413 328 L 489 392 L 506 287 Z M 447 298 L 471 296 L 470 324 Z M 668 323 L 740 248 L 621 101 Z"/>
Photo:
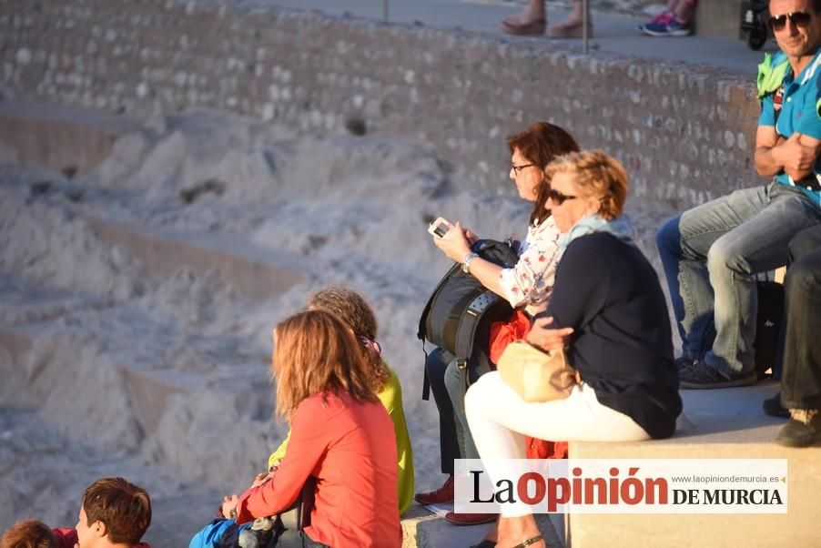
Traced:
<path id="1" fill-rule="evenodd" d="M 518 148 L 523 157 L 540 169 L 547 167 L 554 157 L 579 151 L 579 144 L 572 135 L 562 127 L 548 122 L 533 122 L 522 133 L 507 137 L 507 146 L 511 149 L 511 154 Z M 533 203 L 531 224 L 541 223 L 550 217 L 550 211 L 544 208 L 548 190 L 550 185 L 542 179 L 542 184 L 536 191 L 536 201 Z"/>

